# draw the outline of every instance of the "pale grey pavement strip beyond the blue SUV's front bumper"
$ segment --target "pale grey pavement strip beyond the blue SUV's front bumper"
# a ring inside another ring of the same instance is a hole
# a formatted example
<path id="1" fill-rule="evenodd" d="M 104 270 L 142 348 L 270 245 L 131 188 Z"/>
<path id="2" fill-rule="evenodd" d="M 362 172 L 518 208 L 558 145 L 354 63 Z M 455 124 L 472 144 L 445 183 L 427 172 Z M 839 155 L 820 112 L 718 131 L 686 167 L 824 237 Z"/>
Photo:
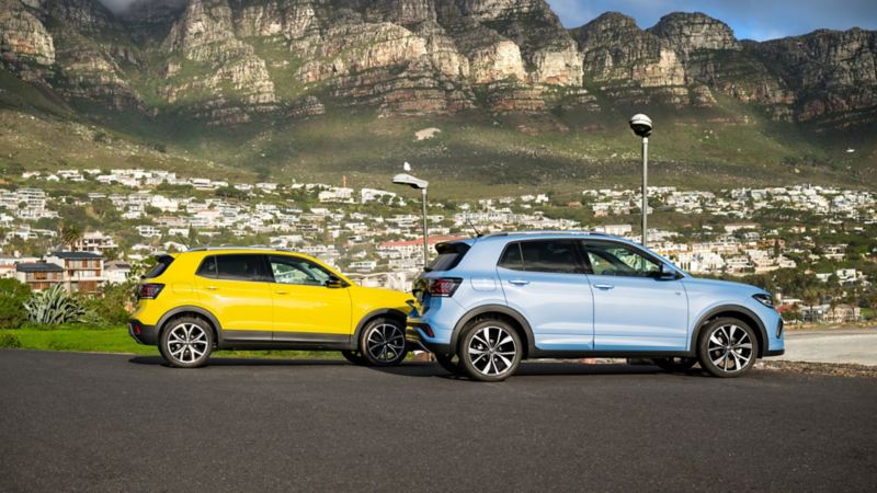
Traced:
<path id="1" fill-rule="evenodd" d="M 788 331 L 781 359 L 877 366 L 877 329 Z"/>

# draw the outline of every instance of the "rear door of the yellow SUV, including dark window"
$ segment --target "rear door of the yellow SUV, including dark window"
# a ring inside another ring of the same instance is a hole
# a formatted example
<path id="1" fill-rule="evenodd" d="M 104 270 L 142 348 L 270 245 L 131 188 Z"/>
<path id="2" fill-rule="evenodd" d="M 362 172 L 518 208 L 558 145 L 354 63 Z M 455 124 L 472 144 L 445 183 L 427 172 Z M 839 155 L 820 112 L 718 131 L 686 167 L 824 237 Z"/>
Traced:
<path id="1" fill-rule="evenodd" d="M 205 257 L 195 273 L 201 302 L 217 318 L 226 340 L 270 341 L 272 299 L 261 254 Z"/>

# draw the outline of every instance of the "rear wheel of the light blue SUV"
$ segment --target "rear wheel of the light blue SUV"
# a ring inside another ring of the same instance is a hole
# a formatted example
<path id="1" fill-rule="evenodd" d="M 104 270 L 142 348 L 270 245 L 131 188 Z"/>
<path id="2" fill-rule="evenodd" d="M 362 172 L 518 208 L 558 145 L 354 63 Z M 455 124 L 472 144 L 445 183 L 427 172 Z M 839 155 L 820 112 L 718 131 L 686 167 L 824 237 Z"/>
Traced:
<path id="1" fill-rule="evenodd" d="M 512 325 L 490 319 L 468 326 L 460 334 L 457 355 L 460 367 L 472 380 L 502 381 L 517 370 L 524 346 Z"/>

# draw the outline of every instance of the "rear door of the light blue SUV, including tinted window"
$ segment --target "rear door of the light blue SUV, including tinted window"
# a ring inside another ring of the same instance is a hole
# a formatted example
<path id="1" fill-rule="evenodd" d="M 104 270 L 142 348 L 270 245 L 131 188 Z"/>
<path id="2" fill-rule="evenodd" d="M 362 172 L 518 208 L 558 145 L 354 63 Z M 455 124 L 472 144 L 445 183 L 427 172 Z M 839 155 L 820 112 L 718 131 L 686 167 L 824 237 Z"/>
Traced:
<path id="1" fill-rule="evenodd" d="M 593 297 L 574 241 L 509 243 L 497 274 L 509 307 L 529 322 L 537 348 L 593 348 Z"/>

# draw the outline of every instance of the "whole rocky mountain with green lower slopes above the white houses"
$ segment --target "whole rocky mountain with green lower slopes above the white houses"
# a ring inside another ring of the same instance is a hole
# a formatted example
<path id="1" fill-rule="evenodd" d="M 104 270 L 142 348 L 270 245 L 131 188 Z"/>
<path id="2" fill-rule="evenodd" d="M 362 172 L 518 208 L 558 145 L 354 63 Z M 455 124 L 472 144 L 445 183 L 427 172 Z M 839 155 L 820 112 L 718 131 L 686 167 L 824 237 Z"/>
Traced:
<path id="1" fill-rule="evenodd" d="M 857 28 L 756 43 L 702 13 L 608 12 L 568 30 L 544 0 L 0 0 L 0 168 L 419 159 L 462 183 L 464 164 L 593 182 L 630 174 L 625 122 L 647 110 L 673 128 L 654 159 L 686 176 L 861 181 L 875 57 Z M 443 133 L 411 144 L 426 123 Z"/>

